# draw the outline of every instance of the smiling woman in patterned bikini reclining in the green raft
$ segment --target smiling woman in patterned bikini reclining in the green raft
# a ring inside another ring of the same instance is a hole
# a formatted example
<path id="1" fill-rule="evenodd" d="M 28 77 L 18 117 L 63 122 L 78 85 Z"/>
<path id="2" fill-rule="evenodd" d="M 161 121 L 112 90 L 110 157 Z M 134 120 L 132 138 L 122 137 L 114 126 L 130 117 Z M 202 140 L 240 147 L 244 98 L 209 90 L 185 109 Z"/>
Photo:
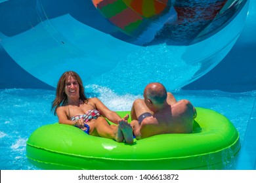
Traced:
<path id="1" fill-rule="evenodd" d="M 81 78 L 74 71 L 65 72 L 58 80 L 52 110 L 60 124 L 74 125 L 89 135 L 133 143 L 129 115 L 121 118 L 99 99 L 87 98 Z M 106 118 L 117 125 L 108 124 Z"/>

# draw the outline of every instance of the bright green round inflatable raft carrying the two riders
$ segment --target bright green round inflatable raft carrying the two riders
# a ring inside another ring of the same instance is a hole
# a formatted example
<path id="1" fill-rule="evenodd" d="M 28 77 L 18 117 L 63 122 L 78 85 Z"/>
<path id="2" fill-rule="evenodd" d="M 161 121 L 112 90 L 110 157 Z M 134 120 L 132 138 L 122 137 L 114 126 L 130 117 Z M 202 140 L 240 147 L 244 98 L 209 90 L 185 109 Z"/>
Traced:
<path id="1" fill-rule="evenodd" d="M 196 110 L 193 133 L 155 135 L 134 144 L 93 137 L 71 125 L 44 125 L 28 139 L 27 157 L 41 169 L 225 169 L 240 150 L 238 131 L 223 115 Z"/>

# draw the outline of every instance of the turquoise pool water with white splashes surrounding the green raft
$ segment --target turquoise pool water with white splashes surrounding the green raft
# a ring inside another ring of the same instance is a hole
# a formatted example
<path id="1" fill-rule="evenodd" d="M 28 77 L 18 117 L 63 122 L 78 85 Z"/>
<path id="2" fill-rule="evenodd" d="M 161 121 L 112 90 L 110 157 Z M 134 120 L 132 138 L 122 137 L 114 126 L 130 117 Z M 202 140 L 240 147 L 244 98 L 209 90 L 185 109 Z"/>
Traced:
<path id="1" fill-rule="evenodd" d="M 130 110 L 134 99 L 142 97 L 129 93 L 120 95 L 102 86 L 86 86 L 85 90 L 88 91 L 88 97 L 98 97 L 112 110 Z M 253 150 L 251 146 L 254 142 L 248 144 L 250 140 L 246 136 L 251 135 L 251 138 L 255 138 L 251 130 L 252 125 L 255 124 L 253 120 L 256 118 L 256 111 L 253 114 L 256 91 L 227 93 L 217 90 L 180 90 L 173 93 L 177 99 L 189 99 L 196 107 L 216 110 L 226 116 L 238 129 L 242 142 L 240 159 L 232 162 L 226 169 L 255 169 L 255 147 Z M 56 116 L 50 111 L 54 95 L 52 90 L 0 90 L 0 169 L 37 169 L 26 158 L 26 141 L 41 125 L 57 122 Z M 248 128 L 249 124 L 251 129 Z M 245 138 L 248 139 L 245 141 Z M 246 142 L 247 149 L 244 149 Z"/>

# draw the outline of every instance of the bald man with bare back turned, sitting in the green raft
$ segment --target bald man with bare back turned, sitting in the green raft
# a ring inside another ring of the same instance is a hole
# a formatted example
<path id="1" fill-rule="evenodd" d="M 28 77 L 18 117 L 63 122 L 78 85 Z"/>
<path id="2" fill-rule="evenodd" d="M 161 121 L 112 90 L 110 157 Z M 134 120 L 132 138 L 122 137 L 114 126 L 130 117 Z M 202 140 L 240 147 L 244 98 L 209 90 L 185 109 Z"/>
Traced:
<path id="1" fill-rule="evenodd" d="M 136 99 L 131 108 L 131 126 L 136 139 L 163 133 L 192 133 L 196 108 L 186 99 L 176 101 L 163 84 L 150 83 L 144 100 Z"/>

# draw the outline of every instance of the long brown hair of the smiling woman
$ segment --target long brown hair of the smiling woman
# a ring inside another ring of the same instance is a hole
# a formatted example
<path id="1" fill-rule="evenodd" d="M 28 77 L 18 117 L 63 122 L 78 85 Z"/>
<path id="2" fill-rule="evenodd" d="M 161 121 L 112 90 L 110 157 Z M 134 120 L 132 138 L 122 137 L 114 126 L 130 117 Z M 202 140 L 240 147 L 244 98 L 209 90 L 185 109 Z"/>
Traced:
<path id="1" fill-rule="evenodd" d="M 56 110 L 58 107 L 66 105 L 68 102 L 68 96 L 65 93 L 65 87 L 66 82 L 68 80 L 68 77 L 72 76 L 77 80 L 77 83 L 79 85 L 79 98 L 83 102 L 87 102 L 87 97 L 85 96 L 85 89 L 83 88 L 83 82 L 77 73 L 74 71 L 66 71 L 65 73 L 60 76 L 60 79 L 58 80 L 58 85 L 56 88 L 56 98 L 54 99 L 52 103 L 51 110 L 54 111 L 54 115 L 56 115 Z"/>

